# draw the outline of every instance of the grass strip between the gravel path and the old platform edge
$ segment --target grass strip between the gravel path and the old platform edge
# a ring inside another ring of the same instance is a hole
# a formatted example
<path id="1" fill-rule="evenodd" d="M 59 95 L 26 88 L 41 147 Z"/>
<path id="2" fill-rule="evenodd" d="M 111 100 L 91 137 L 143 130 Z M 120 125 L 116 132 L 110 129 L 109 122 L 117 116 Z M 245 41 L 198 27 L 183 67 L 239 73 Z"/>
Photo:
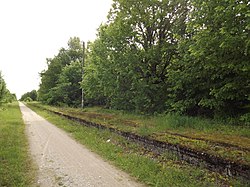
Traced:
<path id="1" fill-rule="evenodd" d="M 202 167 L 194 167 L 166 152 L 157 157 L 141 146 L 106 130 L 86 127 L 29 105 L 31 109 L 118 168 L 149 186 L 248 186 L 248 181 L 228 179 Z"/>

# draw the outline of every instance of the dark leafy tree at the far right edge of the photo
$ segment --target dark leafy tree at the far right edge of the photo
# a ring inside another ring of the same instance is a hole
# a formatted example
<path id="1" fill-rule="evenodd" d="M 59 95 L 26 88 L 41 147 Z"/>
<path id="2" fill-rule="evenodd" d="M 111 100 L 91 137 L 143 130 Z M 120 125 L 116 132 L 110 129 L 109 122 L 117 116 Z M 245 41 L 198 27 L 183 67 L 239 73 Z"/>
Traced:
<path id="1" fill-rule="evenodd" d="M 249 104 L 248 1 L 192 0 L 188 37 L 169 67 L 170 109 L 235 116 Z"/>

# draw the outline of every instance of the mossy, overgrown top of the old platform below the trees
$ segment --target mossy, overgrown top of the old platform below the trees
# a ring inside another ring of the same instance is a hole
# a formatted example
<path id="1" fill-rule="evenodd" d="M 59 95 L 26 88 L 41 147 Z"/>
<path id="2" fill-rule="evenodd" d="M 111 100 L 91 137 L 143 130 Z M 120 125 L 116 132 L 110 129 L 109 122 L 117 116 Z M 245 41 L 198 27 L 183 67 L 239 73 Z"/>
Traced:
<path id="1" fill-rule="evenodd" d="M 40 103 L 29 105 L 41 106 L 107 127 L 133 132 L 206 152 L 232 162 L 250 165 L 249 125 L 233 126 L 218 120 L 177 114 L 145 116 L 101 107 L 76 109 L 52 107 Z"/>

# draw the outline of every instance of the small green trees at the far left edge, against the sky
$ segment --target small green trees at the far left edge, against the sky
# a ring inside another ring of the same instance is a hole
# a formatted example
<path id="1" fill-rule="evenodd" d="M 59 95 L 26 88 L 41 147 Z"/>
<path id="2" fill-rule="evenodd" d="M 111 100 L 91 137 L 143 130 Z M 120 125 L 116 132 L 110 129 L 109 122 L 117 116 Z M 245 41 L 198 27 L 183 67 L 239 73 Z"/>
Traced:
<path id="1" fill-rule="evenodd" d="M 7 89 L 5 80 L 2 76 L 2 72 L 0 71 L 0 106 L 2 103 L 9 103 L 16 100 L 16 95 L 11 94 Z"/>

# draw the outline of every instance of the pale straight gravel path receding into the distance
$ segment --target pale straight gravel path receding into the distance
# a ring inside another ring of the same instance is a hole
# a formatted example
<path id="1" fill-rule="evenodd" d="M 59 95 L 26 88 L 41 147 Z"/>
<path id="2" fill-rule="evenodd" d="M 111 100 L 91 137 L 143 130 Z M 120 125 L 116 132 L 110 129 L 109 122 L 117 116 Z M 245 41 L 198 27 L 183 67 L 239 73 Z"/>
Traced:
<path id="1" fill-rule="evenodd" d="M 39 186 L 142 186 L 24 104 L 19 105 L 38 166 Z"/>

